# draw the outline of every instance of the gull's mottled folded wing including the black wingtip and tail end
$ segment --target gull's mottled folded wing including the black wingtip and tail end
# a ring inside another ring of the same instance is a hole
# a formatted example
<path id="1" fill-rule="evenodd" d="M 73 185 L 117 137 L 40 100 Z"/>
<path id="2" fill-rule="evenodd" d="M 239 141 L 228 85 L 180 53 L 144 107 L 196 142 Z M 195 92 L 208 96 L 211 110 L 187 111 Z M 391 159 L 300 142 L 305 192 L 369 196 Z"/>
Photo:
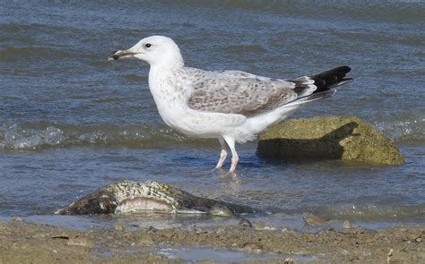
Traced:
<path id="1" fill-rule="evenodd" d="M 351 81 L 345 78 L 350 70 L 342 66 L 291 81 L 239 71 L 196 72 L 187 105 L 204 112 L 260 115 L 296 100 L 304 103 L 329 97 L 334 87 Z"/>

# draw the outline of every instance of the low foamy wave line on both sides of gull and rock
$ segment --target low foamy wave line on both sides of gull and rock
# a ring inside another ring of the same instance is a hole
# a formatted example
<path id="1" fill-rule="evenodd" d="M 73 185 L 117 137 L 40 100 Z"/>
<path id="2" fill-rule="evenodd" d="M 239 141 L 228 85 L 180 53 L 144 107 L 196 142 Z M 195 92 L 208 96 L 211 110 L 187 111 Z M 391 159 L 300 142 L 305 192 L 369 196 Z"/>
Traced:
<path id="1" fill-rule="evenodd" d="M 114 101 L 114 100 L 113 100 Z M 425 144 L 425 118 L 411 115 L 369 116 L 369 123 L 397 143 Z M 4 123 L 0 126 L 0 149 L 70 148 L 74 146 L 114 146 L 130 148 L 167 148 L 204 145 L 215 141 L 187 138 L 166 125 L 100 123 Z"/>

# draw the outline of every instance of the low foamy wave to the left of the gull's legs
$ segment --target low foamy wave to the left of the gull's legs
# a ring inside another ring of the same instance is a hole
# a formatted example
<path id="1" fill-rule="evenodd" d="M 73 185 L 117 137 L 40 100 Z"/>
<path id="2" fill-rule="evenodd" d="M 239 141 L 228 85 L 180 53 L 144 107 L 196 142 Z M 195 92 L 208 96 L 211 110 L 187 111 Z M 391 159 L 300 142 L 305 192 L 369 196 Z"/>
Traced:
<path id="1" fill-rule="evenodd" d="M 78 126 L 56 123 L 4 124 L 0 127 L 1 149 L 45 149 L 75 146 L 164 148 L 166 143 L 190 141 L 167 126 L 103 123 Z"/>

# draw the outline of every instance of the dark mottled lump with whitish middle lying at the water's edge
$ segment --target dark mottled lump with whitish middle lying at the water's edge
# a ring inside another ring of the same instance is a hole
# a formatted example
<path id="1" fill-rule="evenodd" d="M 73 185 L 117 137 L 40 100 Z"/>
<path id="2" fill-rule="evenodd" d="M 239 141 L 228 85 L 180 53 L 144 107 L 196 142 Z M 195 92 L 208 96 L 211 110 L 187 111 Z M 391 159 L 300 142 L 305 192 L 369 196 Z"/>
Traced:
<path id="1" fill-rule="evenodd" d="M 246 205 L 202 198 L 166 183 L 119 181 L 75 200 L 56 215 L 130 214 L 136 212 L 198 213 L 230 217 L 260 212 Z M 124 226 L 117 224 L 116 230 Z"/>

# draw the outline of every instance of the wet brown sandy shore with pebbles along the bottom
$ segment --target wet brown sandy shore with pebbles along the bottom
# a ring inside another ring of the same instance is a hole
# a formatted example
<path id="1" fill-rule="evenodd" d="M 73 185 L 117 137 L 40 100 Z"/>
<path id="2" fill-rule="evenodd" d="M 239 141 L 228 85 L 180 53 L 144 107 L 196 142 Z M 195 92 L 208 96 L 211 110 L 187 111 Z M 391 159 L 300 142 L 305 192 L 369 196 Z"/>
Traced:
<path id="1" fill-rule="evenodd" d="M 20 219 L 18 219 L 20 220 Z M 76 231 L 25 222 L 0 223 L 0 263 L 185 262 L 160 248 L 202 246 L 259 254 L 270 263 L 425 263 L 425 229 L 359 227 L 303 233 L 235 225 L 187 231 L 155 228 Z M 302 258 L 308 256 L 308 258 Z M 293 260 L 287 259 L 291 257 Z M 259 260 L 250 261 L 250 263 Z"/>

